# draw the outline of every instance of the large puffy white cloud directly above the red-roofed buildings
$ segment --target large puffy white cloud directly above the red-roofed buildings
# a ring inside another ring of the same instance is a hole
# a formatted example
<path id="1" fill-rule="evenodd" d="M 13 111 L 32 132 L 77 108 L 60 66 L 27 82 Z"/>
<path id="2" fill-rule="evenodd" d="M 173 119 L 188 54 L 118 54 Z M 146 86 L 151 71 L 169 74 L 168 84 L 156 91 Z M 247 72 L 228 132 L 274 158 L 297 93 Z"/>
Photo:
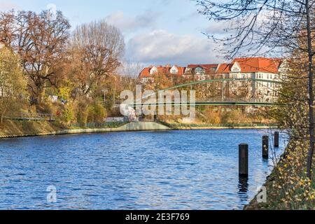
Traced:
<path id="1" fill-rule="evenodd" d="M 146 64 L 204 64 L 222 62 L 206 37 L 177 36 L 165 30 L 138 34 L 127 43 L 127 57 Z"/>

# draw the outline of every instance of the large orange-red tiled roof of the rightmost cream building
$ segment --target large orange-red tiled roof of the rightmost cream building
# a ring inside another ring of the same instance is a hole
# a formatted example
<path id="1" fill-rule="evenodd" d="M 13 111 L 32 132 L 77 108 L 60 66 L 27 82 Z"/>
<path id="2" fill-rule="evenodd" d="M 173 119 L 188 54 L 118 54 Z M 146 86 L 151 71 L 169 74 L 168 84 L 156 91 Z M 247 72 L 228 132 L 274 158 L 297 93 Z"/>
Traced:
<path id="1" fill-rule="evenodd" d="M 232 64 L 235 64 L 235 62 L 241 67 L 241 72 L 245 73 L 279 73 L 279 66 L 281 65 L 281 59 L 266 57 L 236 58 L 233 60 Z"/>

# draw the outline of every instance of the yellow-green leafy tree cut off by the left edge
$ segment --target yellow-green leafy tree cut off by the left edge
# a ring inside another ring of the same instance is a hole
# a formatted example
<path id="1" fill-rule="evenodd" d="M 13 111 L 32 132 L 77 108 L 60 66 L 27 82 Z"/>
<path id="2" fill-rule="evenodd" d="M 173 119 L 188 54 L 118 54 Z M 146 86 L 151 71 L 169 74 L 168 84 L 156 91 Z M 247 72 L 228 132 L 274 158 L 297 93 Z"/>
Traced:
<path id="1" fill-rule="evenodd" d="M 0 117 L 12 115 L 21 109 L 27 99 L 27 83 L 22 74 L 20 58 L 0 46 Z"/>

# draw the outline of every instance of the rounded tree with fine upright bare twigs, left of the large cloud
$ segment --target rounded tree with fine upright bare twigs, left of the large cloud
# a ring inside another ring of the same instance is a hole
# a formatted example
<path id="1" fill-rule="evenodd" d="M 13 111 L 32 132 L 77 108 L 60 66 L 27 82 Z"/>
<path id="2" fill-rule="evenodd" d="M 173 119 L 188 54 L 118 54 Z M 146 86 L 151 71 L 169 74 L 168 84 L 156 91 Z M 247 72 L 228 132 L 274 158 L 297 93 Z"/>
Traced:
<path id="1" fill-rule="evenodd" d="M 105 21 L 76 27 L 71 36 L 71 51 L 78 94 L 87 96 L 101 84 L 110 85 L 124 50 L 123 35 Z"/>

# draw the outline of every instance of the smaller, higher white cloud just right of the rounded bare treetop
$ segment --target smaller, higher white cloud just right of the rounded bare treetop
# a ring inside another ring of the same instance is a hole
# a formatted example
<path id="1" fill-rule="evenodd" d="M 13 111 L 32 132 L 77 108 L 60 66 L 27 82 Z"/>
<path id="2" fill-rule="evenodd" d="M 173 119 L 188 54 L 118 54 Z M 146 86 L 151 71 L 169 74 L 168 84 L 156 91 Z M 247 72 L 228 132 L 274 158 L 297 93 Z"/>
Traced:
<path id="1" fill-rule="evenodd" d="M 154 27 L 160 13 L 148 10 L 140 15 L 128 18 L 123 11 L 118 11 L 105 18 L 106 22 L 118 27 L 123 32 L 132 32 L 139 29 Z"/>

